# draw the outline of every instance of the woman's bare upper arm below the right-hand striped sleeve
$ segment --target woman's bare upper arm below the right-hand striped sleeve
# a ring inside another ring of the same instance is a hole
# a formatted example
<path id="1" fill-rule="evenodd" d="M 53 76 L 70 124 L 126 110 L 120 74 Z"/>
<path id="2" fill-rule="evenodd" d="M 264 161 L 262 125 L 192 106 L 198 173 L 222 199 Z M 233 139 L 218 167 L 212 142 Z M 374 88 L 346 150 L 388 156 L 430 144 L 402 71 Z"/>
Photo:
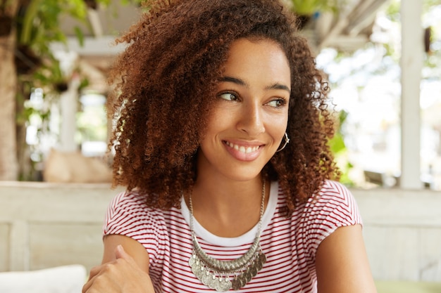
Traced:
<path id="1" fill-rule="evenodd" d="M 375 293 L 361 226 L 337 228 L 316 254 L 319 293 Z"/>

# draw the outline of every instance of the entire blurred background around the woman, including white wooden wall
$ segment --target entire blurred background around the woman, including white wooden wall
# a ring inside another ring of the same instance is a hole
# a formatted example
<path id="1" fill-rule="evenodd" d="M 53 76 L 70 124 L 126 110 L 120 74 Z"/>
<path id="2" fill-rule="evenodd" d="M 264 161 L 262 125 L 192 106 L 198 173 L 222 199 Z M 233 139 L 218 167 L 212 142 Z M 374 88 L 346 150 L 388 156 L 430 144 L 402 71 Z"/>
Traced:
<path id="1" fill-rule="evenodd" d="M 330 84 L 379 292 L 441 292 L 441 0 L 284 1 Z M 142 9 L 0 0 L 0 271 L 100 262 L 106 77 Z"/>

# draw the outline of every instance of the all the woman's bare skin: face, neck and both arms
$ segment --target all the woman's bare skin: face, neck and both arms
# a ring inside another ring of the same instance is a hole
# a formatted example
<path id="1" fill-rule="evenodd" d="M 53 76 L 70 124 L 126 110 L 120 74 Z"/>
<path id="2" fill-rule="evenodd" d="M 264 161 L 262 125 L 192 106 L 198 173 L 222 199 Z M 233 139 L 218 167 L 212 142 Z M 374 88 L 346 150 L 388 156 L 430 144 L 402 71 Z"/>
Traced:
<path id="1" fill-rule="evenodd" d="M 290 74 L 285 53 L 272 40 L 238 39 L 230 48 L 191 193 L 194 216 L 211 233 L 235 237 L 259 221 L 261 169 L 285 133 L 289 105 L 281 100 L 290 95 Z M 230 150 L 231 143 L 260 148 L 238 153 Z M 188 201 L 190 194 L 185 196 Z M 102 263 L 92 269 L 83 293 L 154 292 L 149 255 L 139 242 L 122 235 L 104 237 Z M 361 226 L 337 228 L 323 240 L 316 272 L 318 293 L 376 292 Z"/>

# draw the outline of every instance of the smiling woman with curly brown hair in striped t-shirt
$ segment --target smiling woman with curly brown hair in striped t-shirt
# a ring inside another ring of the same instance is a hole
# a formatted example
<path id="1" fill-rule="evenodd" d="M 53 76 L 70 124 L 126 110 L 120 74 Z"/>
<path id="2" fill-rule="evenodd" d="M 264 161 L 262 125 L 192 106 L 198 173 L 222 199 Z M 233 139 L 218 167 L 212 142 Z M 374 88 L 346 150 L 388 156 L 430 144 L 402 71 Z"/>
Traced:
<path id="1" fill-rule="evenodd" d="M 332 181 L 328 88 L 292 14 L 150 5 L 112 72 L 127 191 L 83 292 L 375 292 L 356 203 Z"/>

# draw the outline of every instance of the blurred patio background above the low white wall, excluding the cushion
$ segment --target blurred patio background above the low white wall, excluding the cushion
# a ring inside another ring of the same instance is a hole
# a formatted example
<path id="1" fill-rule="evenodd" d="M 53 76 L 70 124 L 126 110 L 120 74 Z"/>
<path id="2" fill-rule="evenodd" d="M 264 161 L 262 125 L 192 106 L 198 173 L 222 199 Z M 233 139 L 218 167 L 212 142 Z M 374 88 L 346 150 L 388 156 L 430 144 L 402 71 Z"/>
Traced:
<path id="1" fill-rule="evenodd" d="M 440 1 L 403 1 L 405 22 L 399 0 L 285 1 L 330 82 L 342 181 L 440 190 Z M 0 180 L 61 180 L 44 176 L 51 153 L 106 154 L 106 72 L 139 1 L 1 3 Z"/>

